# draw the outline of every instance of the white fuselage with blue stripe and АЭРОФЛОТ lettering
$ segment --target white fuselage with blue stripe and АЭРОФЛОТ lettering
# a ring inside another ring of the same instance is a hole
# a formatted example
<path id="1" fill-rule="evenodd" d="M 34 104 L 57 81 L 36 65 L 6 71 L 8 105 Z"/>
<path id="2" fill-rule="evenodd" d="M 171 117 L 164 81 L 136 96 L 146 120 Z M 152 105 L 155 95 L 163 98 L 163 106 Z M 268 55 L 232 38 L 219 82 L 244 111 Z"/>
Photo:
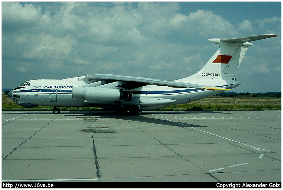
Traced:
<path id="1" fill-rule="evenodd" d="M 125 82 L 120 81 L 103 84 L 99 81 L 87 80 L 85 76 L 61 80 L 30 80 L 26 82 L 25 87 L 15 88 L 12 91 L 11 98 L 23 107 L 103 107 L 112 110 L 139 107 L 140 110 L 145 111 L 168 105 L 185 104 L 222 92 L 219 90 L 147 85 L 129 90 L 134 94 L 134 97 L 129 101 L 87 101 L 85 98 L 72 97 L 72 88 L 79 86 L 88 87 L 90 85 L 93 87 L 93 84 L 96 82 L 99 84 L 95 87 L 101 88 L 102 91 L 107 91 L 107 89 L 123 89 L 121 85 L 125 84 Z M 199 81 L 199 83 L 202 82 L 202 80 Z M 232 80 L 232 83 L 228 85 L 222 78 L 213 81 L 213 85 L 215 85 L 215 82 L 217 82 L 218 86 L 229 89 L 238 85 L 237 82 Z"/>

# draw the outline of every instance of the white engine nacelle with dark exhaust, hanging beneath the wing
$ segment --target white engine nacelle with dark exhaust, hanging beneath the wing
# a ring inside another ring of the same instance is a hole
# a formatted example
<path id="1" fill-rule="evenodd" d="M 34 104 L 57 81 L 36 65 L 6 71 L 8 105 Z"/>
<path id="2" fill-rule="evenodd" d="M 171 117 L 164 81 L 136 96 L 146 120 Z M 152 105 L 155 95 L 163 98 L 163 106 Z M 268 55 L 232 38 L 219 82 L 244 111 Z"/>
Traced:
<path id="1" fill-rule="evenodd" d="M 72 97 L 87 101 L 130 101 L 134 94 L 114 88 L 73 87 Z"/>

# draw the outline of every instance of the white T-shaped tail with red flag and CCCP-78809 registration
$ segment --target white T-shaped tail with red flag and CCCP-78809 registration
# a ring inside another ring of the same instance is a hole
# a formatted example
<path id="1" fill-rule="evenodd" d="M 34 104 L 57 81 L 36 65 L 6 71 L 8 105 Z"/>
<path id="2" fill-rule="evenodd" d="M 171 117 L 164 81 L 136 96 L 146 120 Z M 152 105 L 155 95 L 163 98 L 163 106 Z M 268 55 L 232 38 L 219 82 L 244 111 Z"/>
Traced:
<path id="1" fill-rule="evenodd" d="M 208 60 L 204 67 L 196 73 L 197 78 L 216 78 L 222 74 L 234 74 L 242 62 L 250 45 L 250 41 L 275 37 L 277 35 L 264 34 L 228 39 L 209 39 L 211 43 L 219 44 L 219 49 Z"/>

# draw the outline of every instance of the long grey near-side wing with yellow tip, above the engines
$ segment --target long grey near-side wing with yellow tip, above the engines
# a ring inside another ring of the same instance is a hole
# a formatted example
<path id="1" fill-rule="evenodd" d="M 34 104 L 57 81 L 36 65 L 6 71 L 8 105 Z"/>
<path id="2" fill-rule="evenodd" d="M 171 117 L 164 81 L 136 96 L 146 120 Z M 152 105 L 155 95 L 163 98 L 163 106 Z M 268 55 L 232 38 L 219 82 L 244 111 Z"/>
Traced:
<path id="1" fill-rule="evenodd" d="M 169 86 L 169 87 L 172 87 L 172 88 L 197 88 L 197 89 L 207 89 L 207 90 L 229 90 L 229 89 L 226 89 L 226 88 L 207 87 L 207 86 L 204 86 L 204 85 L 191 84 L 191 83 L 182 83 L 182 82 L 176 82 L 176 81 L 159 80 L 159 79 L 144 78 L 144 77 L 129 77 L 129 76 L 114 75 L 114 74 L 93 74 L 93 75 L 88 75 L 85 78 L 90 79 L 90 80 L 97 80 L 97 81 L 99 81 L 99 80 L 127 81 L 127 82 L 137 83 L 137 87 L 140 86 L 140 83 L 144 83 L 146 85 Z"/>

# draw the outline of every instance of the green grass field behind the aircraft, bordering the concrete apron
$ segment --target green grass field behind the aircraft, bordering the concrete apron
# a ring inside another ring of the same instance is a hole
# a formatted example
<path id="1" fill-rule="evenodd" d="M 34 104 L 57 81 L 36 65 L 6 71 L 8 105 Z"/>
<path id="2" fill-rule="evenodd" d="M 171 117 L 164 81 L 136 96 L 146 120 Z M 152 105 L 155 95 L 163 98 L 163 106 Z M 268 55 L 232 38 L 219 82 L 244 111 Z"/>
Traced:
<path id="1" fill-rule="evenodd" d="M 2 93 L 2 111 L 12 110 L 49 110 L 53 107 L 38 106 L 34 108 L 24 108 L 16 104 Z M 77 110 L 75 107 L 60 107 L 61 111 Z M 99 107 L 79 107 L 79 110 L 102 109 Z M 281 98 L 266 97 L 207 97 L 187 104 L 166 106 L 157 110 L 177 111 L 177 110 L 281 110 Z"/>

